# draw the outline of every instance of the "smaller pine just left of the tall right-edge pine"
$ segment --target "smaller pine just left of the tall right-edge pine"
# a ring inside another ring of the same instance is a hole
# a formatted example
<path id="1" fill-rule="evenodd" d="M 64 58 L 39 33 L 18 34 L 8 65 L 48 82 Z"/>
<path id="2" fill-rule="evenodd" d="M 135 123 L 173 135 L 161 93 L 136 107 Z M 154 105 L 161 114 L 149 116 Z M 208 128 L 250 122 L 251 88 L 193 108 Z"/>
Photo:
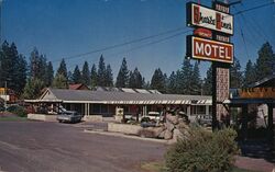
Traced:
<path id="1" fill-rule="evenodd" d="M 248 87 L 251 83 L 256 81 L 256 71 L 255 66 L 252 64 L 251 60 L 248 61 L 246 67 L 244 69 L 244 80 L 243 85 Z"/>

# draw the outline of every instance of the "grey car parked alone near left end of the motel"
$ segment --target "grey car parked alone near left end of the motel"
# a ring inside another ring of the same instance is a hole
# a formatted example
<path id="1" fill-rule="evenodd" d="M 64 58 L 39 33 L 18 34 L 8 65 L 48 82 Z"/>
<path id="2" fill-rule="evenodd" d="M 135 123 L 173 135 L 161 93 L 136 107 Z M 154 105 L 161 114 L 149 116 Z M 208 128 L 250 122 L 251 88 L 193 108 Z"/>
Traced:
<path id="1" fill-rule="evenodd" d="M 81 122 L 82 115 L 80 115 L 76 111 L 64 111 L 61 114 L 57 115 L 56 119 L 59 123 L 66 122 L 66 123 L 79 123 Z"/>

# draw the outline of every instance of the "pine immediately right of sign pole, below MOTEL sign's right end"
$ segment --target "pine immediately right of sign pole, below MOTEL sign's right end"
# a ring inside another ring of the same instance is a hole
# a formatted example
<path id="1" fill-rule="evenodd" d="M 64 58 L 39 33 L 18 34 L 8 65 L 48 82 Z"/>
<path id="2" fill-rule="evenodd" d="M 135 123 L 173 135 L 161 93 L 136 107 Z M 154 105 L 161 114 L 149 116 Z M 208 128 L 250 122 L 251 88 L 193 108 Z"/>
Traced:
<path id="1" fill-rule="evenodd" d="M 242 71 L 240 61 L 235 58 L 234 64 L 230 68 L 230 88 L 242 87 Z"/>

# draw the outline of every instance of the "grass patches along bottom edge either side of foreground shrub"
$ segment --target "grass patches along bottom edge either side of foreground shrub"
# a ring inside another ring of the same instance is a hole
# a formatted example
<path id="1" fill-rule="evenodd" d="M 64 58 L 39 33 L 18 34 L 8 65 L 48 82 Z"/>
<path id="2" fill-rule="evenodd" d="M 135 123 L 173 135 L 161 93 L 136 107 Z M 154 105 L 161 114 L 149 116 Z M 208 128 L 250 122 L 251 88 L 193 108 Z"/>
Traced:
<path id="1" fill-rule="evenodd" d="M 143 163 L 141 165 L 141 169 L 147 172 L 165 172 L 165 164 L 164 162 L 147 162 Z M 256 171 L 233 168 L 232 172 L 256 172 Z"/>

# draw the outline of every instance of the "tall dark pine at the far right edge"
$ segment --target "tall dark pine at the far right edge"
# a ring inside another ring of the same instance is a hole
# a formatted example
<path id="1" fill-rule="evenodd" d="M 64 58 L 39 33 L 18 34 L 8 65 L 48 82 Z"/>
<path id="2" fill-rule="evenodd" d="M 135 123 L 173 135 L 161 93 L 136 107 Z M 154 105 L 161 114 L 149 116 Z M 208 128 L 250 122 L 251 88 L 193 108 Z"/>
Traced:
<path id="1" fill-rule="evenodd" d="M 275 61 L 275 56 L 270 43 L 263 44 L 258 50 L 258 58 L 256 60 L 256 79 L 261 80 L 264 77 L 271 76 L 273 73 L 273 61 Z"/>

